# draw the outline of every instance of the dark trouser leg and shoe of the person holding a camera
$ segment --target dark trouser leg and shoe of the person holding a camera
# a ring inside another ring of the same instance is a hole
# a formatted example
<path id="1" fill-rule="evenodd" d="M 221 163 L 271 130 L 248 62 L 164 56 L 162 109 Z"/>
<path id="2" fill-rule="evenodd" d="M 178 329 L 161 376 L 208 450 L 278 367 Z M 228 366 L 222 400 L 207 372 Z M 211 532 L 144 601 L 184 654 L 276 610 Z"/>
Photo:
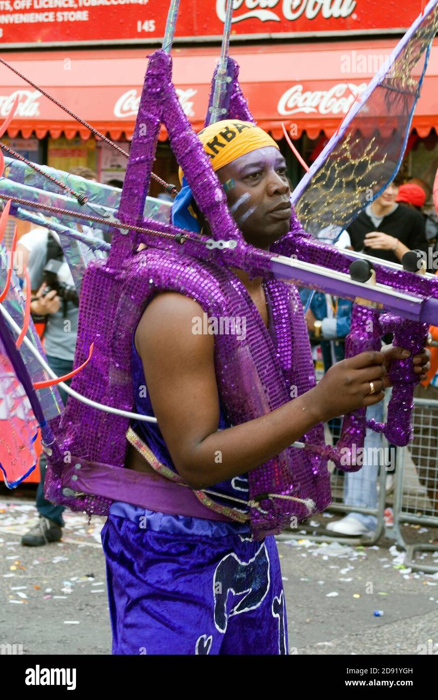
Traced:
<path id="1" fill-rule="evenodd" d="M 48 365 L 57 374 L 58 377 L 64 376 L 64 374 L 69 374 L 73 369 L 73 362 L 71 360 L 61 360 L 57 357 L 47 356 Z M 70 384 L 71 380 L 66 381 L 66 384 Z M 66 404 L 67 394 L 64 389 L 58 386 L 59 395 L 62 398 L 64 405 Z M 36 489 L 36 510 L 40 516 L 40 521 L 34 528 L 23 535 L 22 544 L 30 546 L 40 546 L 44 545 L 46 542 L 58 542 L 62 537 L 62 530 L 60 528 L 64 527 L 64 519 L 62 513 L 64 512 L 63 505 L 55 505 L 50 503 L 44 496 L 44 479 L 45 479 L 45 468 L 47 466 L 47 459 L 45 458 L 44 452 L 41 452 L 39 460 L 40 468 L 40 480 L 38 483 L 38 488 Z"/>

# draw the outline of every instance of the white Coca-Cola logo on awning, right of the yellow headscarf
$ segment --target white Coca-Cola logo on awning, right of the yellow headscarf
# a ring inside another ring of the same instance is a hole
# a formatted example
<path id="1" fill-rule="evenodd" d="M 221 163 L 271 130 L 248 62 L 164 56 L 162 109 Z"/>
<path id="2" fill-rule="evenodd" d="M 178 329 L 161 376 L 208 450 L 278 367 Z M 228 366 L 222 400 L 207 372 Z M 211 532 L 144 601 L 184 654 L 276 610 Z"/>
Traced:
<path id="1" fill-rule="evenodd" d="M 278 100 L 277 110 L 279 114 L 289 116 L 303 112 L 304 114 L 346 114 L 355 98 L 367 87 L 367 83 L 353 85 L 353 83 L 338 83 L 330 90 L 316 90 L 303 92 L 302 85 L 294 85 Z"/>

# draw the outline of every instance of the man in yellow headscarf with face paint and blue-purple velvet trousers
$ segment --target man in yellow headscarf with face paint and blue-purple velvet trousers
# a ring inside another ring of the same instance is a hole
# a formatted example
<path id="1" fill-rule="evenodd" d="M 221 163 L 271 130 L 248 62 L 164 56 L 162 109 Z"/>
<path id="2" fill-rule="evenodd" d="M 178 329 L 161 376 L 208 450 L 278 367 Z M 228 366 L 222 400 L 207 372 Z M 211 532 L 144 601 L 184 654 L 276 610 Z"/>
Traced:
<path id="1" fill-rule="evenodd" d="M 211 125 L 199 137 L 246 241 L 268 249 L 288 233 L 292 216 L 277 144 L 237 120 Z M 174 221 L 208 232 L 187 187 L 174 204 Z M 274 309 L 263 279 L 232 272 L 272 332 Z M 391 348 L 343 360 L 311 391 L 232 426 L 218 396 L 214 336 L 243 334 L 246 325 L 243 318 L 223 321 L 214 327 L 202 306 L 183 293 L 159 293 L 150 301 L 134 333 L 132 376 L 136 412 L 155 415 L 159 428 L 132 423 L 136 437 L 125 466 L 150 475 L 169 494 L 169 504 L 171 491 L 181 486 L 165 473 L 178 475 L 191 489 L 213 492 L 218 503 L 245 514 L 248 472 L 318 423 L 382 400 L 388 363 L 406 357 L 406 351 Z M 419 355 L 416 373 L 422 379 L 427 370 L 428 356 Z M 200 504 L 192 512 L 171 505 L 158 512 L 117 502 L 102 542 L 114 654 L 288 654 L 272 535 L 255 541 L 247 522 Z"/>

